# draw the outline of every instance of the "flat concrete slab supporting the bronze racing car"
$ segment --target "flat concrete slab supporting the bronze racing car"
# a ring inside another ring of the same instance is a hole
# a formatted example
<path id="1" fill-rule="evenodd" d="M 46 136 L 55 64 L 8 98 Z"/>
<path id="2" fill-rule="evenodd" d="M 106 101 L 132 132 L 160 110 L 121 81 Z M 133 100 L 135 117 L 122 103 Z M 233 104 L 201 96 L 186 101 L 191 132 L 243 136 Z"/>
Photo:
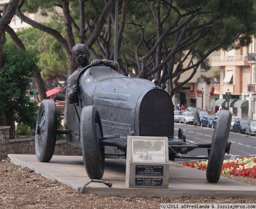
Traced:
<path id="1" fill-rule="evenodd" d="M 80 188 L 90 178 L 87 176 L 81 156 L 54 155 L 49 163 L 41 163 L 35 155 L 9 154 L 10 160 L 22 167 L 28 167 L 50 179 L 71 186 L 75 190 Z M 169 162 L 168 189 L 128 188 L 125 186 L 124 158 L 106 158 L 103 181 L 111 181 L 109 188 L 105 184 L 92 182 L 84 191 L 97 195 L 115 195 L 134 197 L 143 195 L 148 197 L 179 198 L 184 195 L 206 196 L 216 198 L 256 198 L 256 186 L 222 177 L 218 183 L 212 184 L 206 180 L 206 172 Z"/>

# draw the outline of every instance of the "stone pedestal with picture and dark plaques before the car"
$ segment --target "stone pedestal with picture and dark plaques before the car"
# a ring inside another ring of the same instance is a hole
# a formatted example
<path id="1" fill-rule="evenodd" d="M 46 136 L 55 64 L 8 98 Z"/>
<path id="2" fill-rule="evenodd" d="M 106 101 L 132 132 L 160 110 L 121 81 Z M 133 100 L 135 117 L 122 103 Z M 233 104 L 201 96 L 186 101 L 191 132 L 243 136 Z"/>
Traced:
<path id="1" fill-rule="evenodd" d="M 128 136 L 125 186 L 168 188 L 167 137 Z"/>

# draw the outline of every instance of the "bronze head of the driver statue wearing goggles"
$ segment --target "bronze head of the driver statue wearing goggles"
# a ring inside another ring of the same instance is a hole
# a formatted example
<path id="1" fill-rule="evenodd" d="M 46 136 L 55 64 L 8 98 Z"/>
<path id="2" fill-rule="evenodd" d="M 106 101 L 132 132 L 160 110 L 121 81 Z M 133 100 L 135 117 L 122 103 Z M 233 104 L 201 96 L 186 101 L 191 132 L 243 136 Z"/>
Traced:
<path id="1" fill-rule="evenodd" d="M 71 50 L 76 62 L 82 67 L 89 65 L 90 51 L 87 45 L 77 44 Z"/>

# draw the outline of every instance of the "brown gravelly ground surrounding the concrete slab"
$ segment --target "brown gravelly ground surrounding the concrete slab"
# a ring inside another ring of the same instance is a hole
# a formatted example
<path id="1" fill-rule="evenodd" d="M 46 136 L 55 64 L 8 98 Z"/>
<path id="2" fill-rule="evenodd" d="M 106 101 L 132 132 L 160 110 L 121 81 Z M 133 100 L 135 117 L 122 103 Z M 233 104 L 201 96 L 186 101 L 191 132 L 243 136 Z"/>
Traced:
<path id="1" fill-rule="evenodd" d="M 84 192 L 80 194 L 69 186 L 42 177 L 29 168 L 20 167 L 10 161 L 0 161 L 0 209 L 136 209 L 160 208 L 160 203 L 256 203 L 256 198 L 192 197 L 147 198 L 137 196 L 122 198 L 98 196 Z M 256 185 L 255 178 L 227 176 L 247 184 Z"/>

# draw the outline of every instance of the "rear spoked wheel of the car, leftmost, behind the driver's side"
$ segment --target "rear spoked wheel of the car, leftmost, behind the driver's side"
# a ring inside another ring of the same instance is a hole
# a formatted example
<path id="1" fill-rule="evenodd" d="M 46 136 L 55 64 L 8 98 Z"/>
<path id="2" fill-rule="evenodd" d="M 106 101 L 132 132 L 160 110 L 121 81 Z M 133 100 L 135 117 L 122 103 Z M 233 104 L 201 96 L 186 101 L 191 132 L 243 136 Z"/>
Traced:
<path id="1" fill-rule="evenodd" d="M 39 107 L 35 128 L 35 155 L 40 162 L 49 162 L 55 149 L 57 110 L 55 102 L 44 99 Z"/>

